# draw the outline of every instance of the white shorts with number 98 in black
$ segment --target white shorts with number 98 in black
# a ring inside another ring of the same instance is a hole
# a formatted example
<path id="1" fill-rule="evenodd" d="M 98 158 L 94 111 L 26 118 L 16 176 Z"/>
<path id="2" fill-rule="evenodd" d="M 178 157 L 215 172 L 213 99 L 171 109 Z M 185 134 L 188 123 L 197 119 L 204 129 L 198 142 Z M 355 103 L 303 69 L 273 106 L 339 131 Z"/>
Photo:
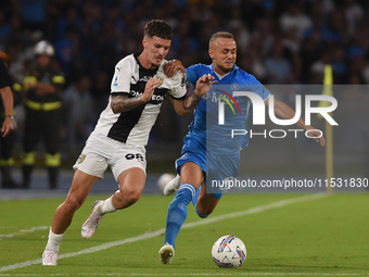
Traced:
<path id="1" fill-rule="evenodd" d="M 111 166 L 115 180 L 120 173 L 132 167 L 139 167 L 147 174 L 144 148 L 127 146 L 92 133 L 73 168 L 103 179 L 107 165 Z"/>

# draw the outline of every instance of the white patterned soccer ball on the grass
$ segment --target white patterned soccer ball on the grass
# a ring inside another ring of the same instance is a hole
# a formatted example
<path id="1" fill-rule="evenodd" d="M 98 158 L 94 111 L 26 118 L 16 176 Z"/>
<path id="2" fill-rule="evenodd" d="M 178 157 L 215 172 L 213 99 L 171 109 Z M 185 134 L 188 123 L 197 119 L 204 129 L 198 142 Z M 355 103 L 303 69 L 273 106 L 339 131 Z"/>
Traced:
<path id="1" fill-rule="evenodd" d="M 214 242 L 212 256 L 219 267 L 240 267 L 246 260 L 246 248 L 241 239 L 227 235 Z"/>

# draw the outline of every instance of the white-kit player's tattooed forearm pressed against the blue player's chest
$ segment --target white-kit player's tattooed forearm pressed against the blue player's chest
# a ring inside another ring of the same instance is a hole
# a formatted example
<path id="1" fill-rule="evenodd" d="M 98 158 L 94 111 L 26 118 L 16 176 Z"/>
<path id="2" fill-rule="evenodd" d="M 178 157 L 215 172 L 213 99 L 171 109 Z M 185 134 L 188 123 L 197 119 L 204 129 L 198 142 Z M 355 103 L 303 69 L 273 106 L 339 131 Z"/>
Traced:
<path id="1" fill-rule="evenodd" d="M 196 88 L 191 96 L 186 97 L 184 100 L 170 99 L 176 112 L 180 116 L 187 116 L 192 113 L 200 103 L 202 97 L 217 83 L 217 80 L 214 81 L 214 76 L 204 74 L 198 79 Z"/>

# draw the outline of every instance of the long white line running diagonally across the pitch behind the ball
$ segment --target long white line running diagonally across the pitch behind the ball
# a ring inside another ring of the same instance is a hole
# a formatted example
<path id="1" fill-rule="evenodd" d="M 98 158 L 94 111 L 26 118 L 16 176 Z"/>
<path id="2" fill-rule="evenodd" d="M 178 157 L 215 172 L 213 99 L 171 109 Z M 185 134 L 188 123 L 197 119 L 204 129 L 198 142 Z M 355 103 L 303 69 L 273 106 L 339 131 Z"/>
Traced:
<path id="1" fill-rule="evenodd" d="M 329 194 L 316 193 L 316 194 L 309 194 L 309 196 L 304 196 L 304 197 L 298 197 L 298 198 L 280 200 L 280 201 L 277 201 L 277 202 L 272 202 L 270 204 L 251 207 L 251 209 L 247 209 L 247 210 L 244 210 L 244 211 L 241 211 L 241 212 L 234 212 L 234 213 L 214 216 L 214 217 L 211 217 L 211 218 L 200 219 L 198 222 L 186 223 L 186 224 L 183 224 L 182 229 L 192 228 L 192 227 L 201 226 L 201 225 L 206 225 L 206 224 L 219 222 L 219 221 L 227 219 L 227 218 L 234 218 L 234 217 L 240 217 L 240 216 L 250 215 L 250 214 L 257 214 L 257 213 L 262 213 L 262 212 L 265 212 L 265 211 L 268 211 L 268 210 L 278 209 L 278 207 L 294 204 L 294 203 L 301 203 L 301 202 L 306 202 L 306 201 L 311 201 L 311 200 L 325 198 L 327 196 L 329 196 Z M 162 228 L 162 229 L 158 229 L 158 230 L 155 230 L 155 231 L 149 231 L 149 232 L 145 232 L 145 234 L 142 234 L 142 235 L 139 235 L 139 236 L 136 236 L 136 237 L 127 238 L 127 239 L 124 239 L 124 240 L 112 241 L 112 242 L 103 243 L 103 244 L 98 245 L 98 247 L 92 247 L 92 248 L 88 248 L 88 249 L 85 249 L 85 250 L 80 250 L 80 251 L 77 251 L 77 252 L 61 254 L 61 255 L 58 256 L 58 260 L 77 256 L 77 255 L 81 255 L 81 254 L 94 253 L 94 252 L 98 252 L 98 251 L 101 251 L 101 250 L 105 250 L 105 249 L 113 248 L 113 247 L 118 247 L 118 245 L 122 245 L 122 244 L 125 244 L 125 243 L 154 238 L 154 237 L 157 237 L 157 236 L 164 235 L 164 234 L 165 234 L 165 228 Z M 30 260 L 30 261 L 23 262 L 23 263 L 16 263 L 16 264 L 13 264 L 13 265 L 7 265 L 7 266 L 0 267 L 0 272 L 7 272 L 7 270 L 11 270 L 11 269 L 26 267 L 26 266 L 34 265 L 34 264 L 40 264 L 41 262 L 42 262 L 42 259 L 37 259 L 37 260 Z"/>

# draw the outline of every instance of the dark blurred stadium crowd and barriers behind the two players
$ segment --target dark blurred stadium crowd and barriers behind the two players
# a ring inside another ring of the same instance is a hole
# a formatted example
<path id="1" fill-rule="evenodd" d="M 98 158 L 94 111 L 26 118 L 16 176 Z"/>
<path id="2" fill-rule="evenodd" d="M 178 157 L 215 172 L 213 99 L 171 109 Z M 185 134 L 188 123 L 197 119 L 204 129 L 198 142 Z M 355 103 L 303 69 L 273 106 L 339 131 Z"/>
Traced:
<path id="1" fill-rule="evenodd" d="M 0 50 L 10 55 L 13 78 L 23 79 L 31 65 L 33 46 L 41 39 L 54 46 L 54 66 L 65 74 L 60 130 L 65 169 L 72 172 L 106 105 L 115 64 L 142 50 L 142 28 L 152 18 L 163 18 L 174 27 L 167 59 L 181 60 L 184 66 L 209 64 L 211 35 L 231 32 L 238 43 L 237 64 L 291 106 L 295 92 L 289 88 L 321 85 L 323 66 L 331 64 L 339 102 L 333 117 L 340 124 L 334 127 L 335 169 L 351 177 L 369 177 L 366 0 L 3 0 Z M 283 89 L 276 85 L 283 85 Z M 16 106 L 15 117 L 14 158 L 20 168 L 22 105 Z M 174 160 L 191 119 L 180 118 L 169 101 L 164 102 L 148 146 L 149 174 L 175 171 Z M 314 119 L 313 125 L 323 129 L 323 121 Z M 273 127 L 268 124 L 265 128 Z M 244 153 L 245 174 L 325 175 L 325 151 L 305 137 L 272 143 L 256 137 Z M 39 165 L 42 163 L 40 146 Z"/>

